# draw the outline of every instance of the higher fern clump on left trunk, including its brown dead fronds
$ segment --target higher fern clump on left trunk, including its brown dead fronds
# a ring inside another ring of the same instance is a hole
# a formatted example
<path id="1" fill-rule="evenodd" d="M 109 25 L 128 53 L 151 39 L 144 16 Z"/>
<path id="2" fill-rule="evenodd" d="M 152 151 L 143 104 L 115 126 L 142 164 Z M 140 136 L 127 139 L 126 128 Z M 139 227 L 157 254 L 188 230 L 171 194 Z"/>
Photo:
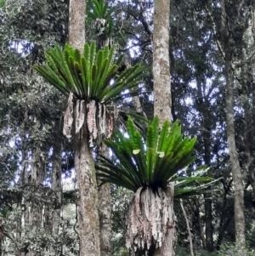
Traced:
<path id="1" fill-rule="evenodd" d="M 81 54 L 67 43 L 64 50 L 55 43 L 45 53 L 47 64 L 34 66 L 62 94 L 69 95 L 63 128 L 68 139 L 73 128 L 77 134 L 83 125 L 87 125 L 91 147 L 96 139 L 109 139 L 113 115 L 107 106 L 139 94 L 133 88 L 141 81 L 143 67 L 137 64 L 119 73 L 122 56 L 116 61 L 115 56 L 116 46 L 97 51 L 95 43 L 85 43 Z"/>

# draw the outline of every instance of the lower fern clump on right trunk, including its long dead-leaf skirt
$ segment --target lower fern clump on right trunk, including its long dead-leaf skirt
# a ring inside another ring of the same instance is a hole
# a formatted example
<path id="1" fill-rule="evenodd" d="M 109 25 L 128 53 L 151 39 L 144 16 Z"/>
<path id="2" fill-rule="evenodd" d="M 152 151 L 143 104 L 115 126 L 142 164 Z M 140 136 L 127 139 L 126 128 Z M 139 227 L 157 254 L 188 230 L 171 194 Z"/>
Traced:
<path id="1" fill-rule="evenodd" d="M 158 117 L 143 137 L 129 118 L 127 136 L 116 131 L 105 144 L 116 158 L 100 156 L 96 163 L 99 177 L 135 192 L 127 213 L 127 247 L 136 255 L 145 251 L 153 255 L 167 230 L 173 228 L 169 223 L 173 193 L 175 197 L 191 196 L 211 184 L 211 178 L 201 176 L 205 166 L 194 170 L 193 176 L 184 171 L 195 161 L 195 139 L 184 138 L 178 121 L 172 127 L 166 121 L 160 130 Z M 175 182 L 174 191 L 169 191 L 170 182 Z"/>

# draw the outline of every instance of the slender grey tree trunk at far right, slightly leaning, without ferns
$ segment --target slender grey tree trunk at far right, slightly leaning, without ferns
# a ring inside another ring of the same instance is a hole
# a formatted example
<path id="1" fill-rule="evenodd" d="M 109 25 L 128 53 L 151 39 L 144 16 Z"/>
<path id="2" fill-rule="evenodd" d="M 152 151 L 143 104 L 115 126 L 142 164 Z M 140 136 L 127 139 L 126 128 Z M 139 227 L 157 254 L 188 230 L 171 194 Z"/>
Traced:
<path id="1" fill-rule="evenodd" d="M 245 215 L 244 215 L 244 185 L 243 174 L 238 159 L 235 145 L 235 118 L 234 118 L 234 72 L 232 69 L 233 61 L 233 37 L 228 29 L 231 26 L 227 22 L 225 1 L 221 0 L 221 26 L 220 36 L 224 47 L 224 65 L 226 78 L 226 122 L 227 137 L 229 144 L 229 156 L 232 169 L 234 188 L 235 188 L 235 249 L 237 255 L 246 255 L 246 236 L 245 236 Z"/>

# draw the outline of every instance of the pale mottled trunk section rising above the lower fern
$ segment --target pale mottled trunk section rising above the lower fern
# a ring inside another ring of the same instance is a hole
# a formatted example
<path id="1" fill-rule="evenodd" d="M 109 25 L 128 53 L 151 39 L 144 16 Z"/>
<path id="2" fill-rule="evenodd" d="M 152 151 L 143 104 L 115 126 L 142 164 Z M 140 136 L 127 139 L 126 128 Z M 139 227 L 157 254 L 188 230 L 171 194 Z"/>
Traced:
<path id="1" fill-rule="evenodd" d="M 171 83 L 169 60 L 170 1 L 155 0 L 153 31 L 154 116 L 162 124 L 171 120 Z"/>

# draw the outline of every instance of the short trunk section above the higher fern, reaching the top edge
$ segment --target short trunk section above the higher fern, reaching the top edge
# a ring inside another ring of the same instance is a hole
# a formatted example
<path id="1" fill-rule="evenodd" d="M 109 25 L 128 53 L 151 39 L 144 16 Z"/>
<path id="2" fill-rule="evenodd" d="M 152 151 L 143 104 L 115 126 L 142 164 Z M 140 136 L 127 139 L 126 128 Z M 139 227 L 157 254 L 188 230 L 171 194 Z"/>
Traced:
<path id="1" fill-rule="evenodd" d="M 68 41 L 73 48 L 83 51 L 85 43 L 85 0 L 70 0 Z"/>

